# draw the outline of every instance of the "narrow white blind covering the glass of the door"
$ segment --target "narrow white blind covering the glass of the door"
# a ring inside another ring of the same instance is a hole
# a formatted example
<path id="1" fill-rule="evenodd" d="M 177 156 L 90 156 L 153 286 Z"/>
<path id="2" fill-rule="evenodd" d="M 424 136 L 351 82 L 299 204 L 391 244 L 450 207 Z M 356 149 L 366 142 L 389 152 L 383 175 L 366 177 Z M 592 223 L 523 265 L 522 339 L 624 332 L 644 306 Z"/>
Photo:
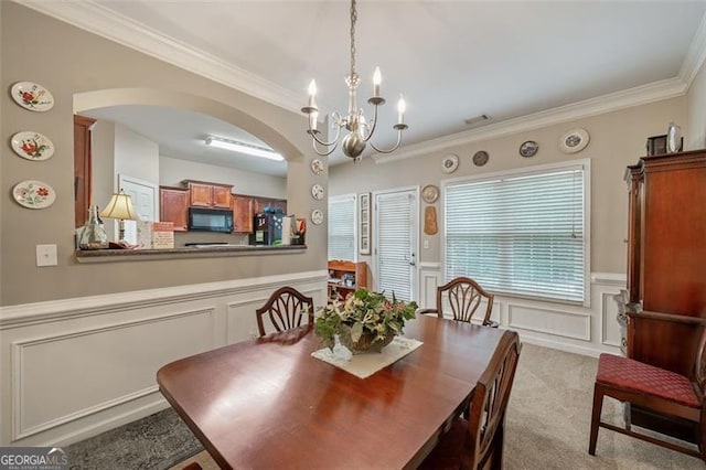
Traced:
<path id="1" fill-rule="evenodd" d="M 378 194 L 377 225 L 377 289 L 387 298 L 393 292 L 399 300 L 411 300 L 413 273 L 411 224 L 414 200 L 406 192 Z"/>

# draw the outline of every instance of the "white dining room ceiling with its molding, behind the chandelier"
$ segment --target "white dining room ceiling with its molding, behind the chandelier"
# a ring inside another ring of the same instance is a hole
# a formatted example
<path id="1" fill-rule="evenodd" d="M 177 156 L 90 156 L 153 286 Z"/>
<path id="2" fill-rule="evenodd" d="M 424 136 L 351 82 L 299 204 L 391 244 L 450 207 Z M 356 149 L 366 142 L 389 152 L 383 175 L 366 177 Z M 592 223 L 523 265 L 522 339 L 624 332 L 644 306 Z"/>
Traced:
<path id="1" fill-rule="evenodd" d="M 347 1 L 22 2 L 288 109 L 306 104 L 311 78 L 321 107 L 346 108 Z M 379 65 L 388 104 L 373 140 L 394 141 L 403 93 L 414 148 L 469 132 L 464 120 L 481 114 L 492 128 L 601 97 L 610 106 L 616 94 L 622 105 L 646 92 L 674 96 L 706 52 L 705 12 L 706 1 L 680 0 L 361 0 L 359 106 Z"/>

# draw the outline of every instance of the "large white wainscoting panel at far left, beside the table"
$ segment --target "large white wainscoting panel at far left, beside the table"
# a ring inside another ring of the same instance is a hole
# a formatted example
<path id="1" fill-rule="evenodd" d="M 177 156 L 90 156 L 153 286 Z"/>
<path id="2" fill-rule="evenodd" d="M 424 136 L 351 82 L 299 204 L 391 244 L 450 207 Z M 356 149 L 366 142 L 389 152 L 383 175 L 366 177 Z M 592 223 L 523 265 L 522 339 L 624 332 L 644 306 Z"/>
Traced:
<path id="1" fill-rule="evenodd" d="M 213 321 L 212 308 L 14 343 L 13 439 L 156 392 L 159 367 L 213 349 Z"/>

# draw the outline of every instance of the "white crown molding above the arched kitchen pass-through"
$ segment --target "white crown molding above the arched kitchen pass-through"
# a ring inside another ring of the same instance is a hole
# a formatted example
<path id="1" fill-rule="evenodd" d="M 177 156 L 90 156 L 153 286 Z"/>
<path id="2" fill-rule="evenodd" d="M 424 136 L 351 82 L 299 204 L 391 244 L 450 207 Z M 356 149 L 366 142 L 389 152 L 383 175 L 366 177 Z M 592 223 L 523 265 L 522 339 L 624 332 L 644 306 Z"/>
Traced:
<path id="1" fill-rule="evenodd" d="M 301 96 L 220 57 L 165 36 L 93 0 L 13 0 L 82 30 L 176 65 L 272 105 L 300 113 Z"/>

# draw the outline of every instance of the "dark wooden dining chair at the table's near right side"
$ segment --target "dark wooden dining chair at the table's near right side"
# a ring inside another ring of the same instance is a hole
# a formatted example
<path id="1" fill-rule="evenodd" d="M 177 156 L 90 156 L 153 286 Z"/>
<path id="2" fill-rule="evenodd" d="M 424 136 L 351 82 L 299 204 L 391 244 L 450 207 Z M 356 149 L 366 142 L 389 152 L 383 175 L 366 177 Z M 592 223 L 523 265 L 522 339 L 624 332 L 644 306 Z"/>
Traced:
<path id="1" fill-rule="evenodd" d="M 520 351 L 517 333 L 505 331 L 473 388 L 469 418 L 452 421 L 420 469 L 502 469 L 505 410 Z"/>

